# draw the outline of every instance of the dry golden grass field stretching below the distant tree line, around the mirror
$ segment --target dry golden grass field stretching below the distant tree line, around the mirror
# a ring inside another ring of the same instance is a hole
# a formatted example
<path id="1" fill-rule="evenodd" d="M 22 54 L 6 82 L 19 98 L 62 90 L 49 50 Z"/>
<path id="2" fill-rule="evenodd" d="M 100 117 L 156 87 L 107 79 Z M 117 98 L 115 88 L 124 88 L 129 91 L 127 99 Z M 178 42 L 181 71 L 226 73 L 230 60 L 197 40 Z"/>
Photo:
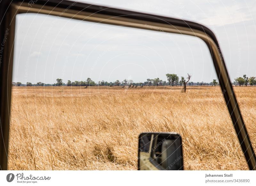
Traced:
<path id="1" fill-rule="evenodd" d="M 220 87 L 13 87 L 8 169 L 136 170 L 141 132 L 180 133 L 185 170 L 246 170 Z M 256 147 L 256 87 L 234 87 Z"/>

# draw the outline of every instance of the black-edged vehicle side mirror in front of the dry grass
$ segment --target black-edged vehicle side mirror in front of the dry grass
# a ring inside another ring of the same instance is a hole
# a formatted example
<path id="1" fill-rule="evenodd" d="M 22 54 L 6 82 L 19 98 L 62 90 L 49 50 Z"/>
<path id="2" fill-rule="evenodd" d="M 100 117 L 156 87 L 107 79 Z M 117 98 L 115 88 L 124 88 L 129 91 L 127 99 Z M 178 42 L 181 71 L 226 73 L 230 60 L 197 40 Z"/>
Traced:
<path id="1" fill-rule="evenodd" d="M 139 170 L 183 170 L 182 142 L 177 133 L 141 133 Z"/>

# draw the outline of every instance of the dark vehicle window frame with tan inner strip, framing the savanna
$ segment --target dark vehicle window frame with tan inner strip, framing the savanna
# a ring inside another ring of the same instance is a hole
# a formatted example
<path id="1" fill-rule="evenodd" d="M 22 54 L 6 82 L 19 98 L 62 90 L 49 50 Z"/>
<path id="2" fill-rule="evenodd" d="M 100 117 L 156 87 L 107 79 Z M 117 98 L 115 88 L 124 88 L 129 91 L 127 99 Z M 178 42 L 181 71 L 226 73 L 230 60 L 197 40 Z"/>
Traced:
<path id="1" fill-rule="evenodd" d="M 34 2 L 34 4 L 32 5 L 31 2 Z M 72 3 L 74 5 L 70 6 Z M 1 170 L 7 170 L 15 16 L 19 13 L 42 13 L 55 16 L 61 15 L 61 17 L 70 19 L 192 35 L 202 39 L 210 50 L 215 71 L 219 78 L 220 87 L 248 167 L 250 170 L 256 170 L 256 157 L 237 104 L 220 46 L 215 35 L 209 28 L 195 22 L 182 19 L 174 19 L 99 5 L 74 3 L 66 0 L 13 0 L 11 2 L 8 0 L 2 0 L 0 2 L 0 42 L 4 39 L 6 28 L 10 29 L 7 42 L 4 45 L 3 56 L 0 64 Z"/>

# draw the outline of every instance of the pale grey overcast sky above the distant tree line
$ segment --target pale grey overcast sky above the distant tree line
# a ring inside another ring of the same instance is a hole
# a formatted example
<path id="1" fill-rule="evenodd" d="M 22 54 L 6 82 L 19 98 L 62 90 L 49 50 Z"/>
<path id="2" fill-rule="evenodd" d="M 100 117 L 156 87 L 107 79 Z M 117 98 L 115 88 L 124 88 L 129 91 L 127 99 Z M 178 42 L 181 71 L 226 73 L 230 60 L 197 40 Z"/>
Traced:
<path id="1" fill-rule="evenodd" d="M 216 34 L 231 81 L 256 76 L 255 1 L 82 1 L 149 12 L 204 24 Z M 192 74 L 194 82 L 217 76 L 210 53 L 200 39 L 110 26 L 47 15 L 20 14 L 16 18 L 13 81 L 55 83 L 135 82 L 166 73 Z"/>

